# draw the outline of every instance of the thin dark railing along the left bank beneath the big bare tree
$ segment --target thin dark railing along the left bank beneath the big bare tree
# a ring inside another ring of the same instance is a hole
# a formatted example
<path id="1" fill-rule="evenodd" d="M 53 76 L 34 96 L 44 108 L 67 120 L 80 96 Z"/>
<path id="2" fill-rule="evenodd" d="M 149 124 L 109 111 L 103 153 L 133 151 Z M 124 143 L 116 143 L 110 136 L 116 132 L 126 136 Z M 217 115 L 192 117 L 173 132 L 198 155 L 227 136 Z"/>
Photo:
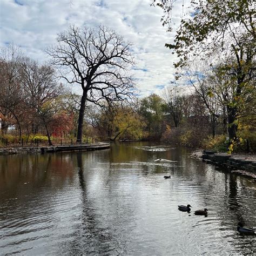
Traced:
<path id="1" fill-rule="evenodd" d="M 78 145 L 78 144 L 93 144 L 98 143 L 97 138 L 86 137 L 77 142 L 77 139 L 52 139 L 51 143 L 53 146 L 64 146 L 64 145 Z M 21 142 L 10 142 L 8 138 L 2 138 L 3 147 L 28 147 L 28 146 L 49 146 L 48 140 L 32 139 L 25 140 L 21 139 Z"/>

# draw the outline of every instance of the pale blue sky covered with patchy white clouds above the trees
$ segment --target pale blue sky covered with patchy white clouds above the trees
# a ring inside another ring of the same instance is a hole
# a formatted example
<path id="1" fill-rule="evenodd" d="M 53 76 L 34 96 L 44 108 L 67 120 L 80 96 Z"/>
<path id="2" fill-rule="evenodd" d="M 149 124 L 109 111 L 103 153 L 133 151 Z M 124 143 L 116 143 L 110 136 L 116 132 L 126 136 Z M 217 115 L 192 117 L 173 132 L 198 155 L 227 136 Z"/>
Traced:
<path id="1" fill-rule="evenodd" d="M 175 28 L 167 33 L 161 25 L 163 11 L 152 0 L 0 0 L 0 46 L 20 46 L 39 63 L 48 60 L 45 49 L 55 44 L 57 33 L 70 24 L 105 25 L 133 44 L 136 65 L 132 73 L 139 95 L 161 95 L 174 81 L 177 60 L 165 43 L 172 43 Z M 182 0 L 172 12 L 178 27 Z"/>

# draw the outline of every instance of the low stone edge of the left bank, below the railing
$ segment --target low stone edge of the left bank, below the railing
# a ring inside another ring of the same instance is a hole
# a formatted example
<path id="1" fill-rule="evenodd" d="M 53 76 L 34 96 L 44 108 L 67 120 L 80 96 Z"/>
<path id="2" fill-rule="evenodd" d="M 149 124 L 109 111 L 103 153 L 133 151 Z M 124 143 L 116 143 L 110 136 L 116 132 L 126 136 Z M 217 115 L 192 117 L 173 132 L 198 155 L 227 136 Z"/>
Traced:
<path id="1" fill-rule="evenodd" d="M 0 155 L 6 154 L 28 154 L 28 153 L 47 153 L 59 151 L 91 151 L 109 149 L 110 143 L 60 145 L 60 146 L 41 146 L 41 147 L 3 147 Z"/>

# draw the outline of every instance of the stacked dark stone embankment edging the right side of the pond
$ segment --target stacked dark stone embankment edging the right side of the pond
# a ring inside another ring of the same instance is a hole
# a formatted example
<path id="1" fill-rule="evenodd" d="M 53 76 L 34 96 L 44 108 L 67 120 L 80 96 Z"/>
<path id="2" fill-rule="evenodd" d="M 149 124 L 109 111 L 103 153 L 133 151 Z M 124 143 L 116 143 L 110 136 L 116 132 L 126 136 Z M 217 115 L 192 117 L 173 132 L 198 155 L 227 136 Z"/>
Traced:
<path id="1" fill-rule="evenodd" d="M 211 161 L 213 164 L 219 164 L 232 167 L 235 170 L 244 170 L 256 174 L 256 159 L 243 156 L 232 156 L 227 153 L 217 153 L 213 150 L 203 151 L 203 160 Z"/>

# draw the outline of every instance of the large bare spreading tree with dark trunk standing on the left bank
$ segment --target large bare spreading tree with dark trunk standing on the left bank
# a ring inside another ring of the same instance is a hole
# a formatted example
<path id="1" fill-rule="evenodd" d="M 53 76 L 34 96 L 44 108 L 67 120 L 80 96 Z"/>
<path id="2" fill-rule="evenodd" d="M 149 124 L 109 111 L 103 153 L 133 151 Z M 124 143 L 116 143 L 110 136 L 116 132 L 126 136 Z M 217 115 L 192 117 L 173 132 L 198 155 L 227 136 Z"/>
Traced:
<path id="1" fill-rule="evenodd" d="M 77 142 L 82 140 L 86 102 L 100 105 L 124 100 L 131 94 L 132 79 L 128 66 L 133 65 L 130 43 L 113 30 L 70 26 L 57 37 L 57 45 L 46 50 L 60 77 L 79 84 L 83 94 L 79 109 Z"/>

